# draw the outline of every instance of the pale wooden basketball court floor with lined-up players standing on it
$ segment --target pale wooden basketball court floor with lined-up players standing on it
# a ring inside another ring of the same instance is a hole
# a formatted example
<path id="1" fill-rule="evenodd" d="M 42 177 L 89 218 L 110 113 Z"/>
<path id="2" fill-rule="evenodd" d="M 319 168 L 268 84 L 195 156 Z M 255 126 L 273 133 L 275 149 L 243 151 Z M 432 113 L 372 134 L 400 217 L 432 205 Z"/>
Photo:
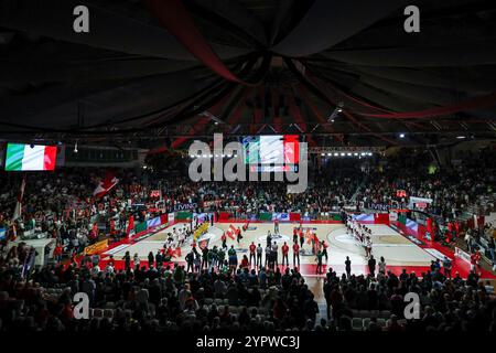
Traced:
<path id="1" fill-rule="evenodd" d="M 215 223 L 214 226 L 208 227 L 208 231 L 203 234 L 196 243 L 200 245 L 203 242 L 203 244 L 207 244 L 208 248 L 213 248 L 214 246 L 222 247 L 223 233 L 228 231 L 229 227 L 242 228 L 244 224 L 245 223 L 240 222 Z M 105 266 L 109 255 L 112 255 L 116 261 L 116 268 L 122 268 L 122 257 L 126 252 L 129 252 L 131 257 L 133 257 L 134 254 L 138 254 L 142 261 L 141 265 L 144 265 L 148 261 L 148 255 L 150 252 L 157 254 L 159 250 L 164 248 L 168 234 L 173 233 L 174 228 L 179 231 L 182 227 L 188 226 L 188 223 L 176 223 L 144 238 L 141 237 L 140 240 L 115 244 L 103 253 L 101 265 Z M 282 259 L 280 248 L 285 242 L 290 246 L 290 267 L 293 267 L 291 245 L 293 242 L 293 227 L 295 226 L 299 226 L 299 223 L 281 223 L 279 225 L 279 234 L 274 236 L 273 223 L 250 223 L 248 229 L 242 232 L 242 239 L 238 243 L 236 238 L 231 239 L 228 237 L 227 246 L 229 248 L 234 246 L 238 254 L 238 260 L 240 261 L 242 255 L 249 254 L 248 247 L 251 243 L 255 243 L 257 246 L 260 244 L 265 248 L 267 245 L 267 234 L 270 232 L 272 234 L 272 242 L 277 242 L 279 245 L 279 263 Z M 339 222 L 322 222 L 303 223 L 302 226 L 304 232 L 310 229 L 316 234 L 320 240 L 325 240 L 328 245 L 328 259 L 327 261 L 324 259 L 324 271 L 332 268 L 337 274 L 343 274 L 345 271 L 344 263 L 346 257 L 349 257 L 353 274 L 368 274 L 368 259 L 365 256 L 364 246 L 353 236 L 346 234 L 346 227 L 344 224 Z M 387 264 L 387 269 L 395 274 L 400 274 L 402 269 L 407 269 L 408 272 L 413 271 L 417 275 L 421 275 L 422 272 L 429 270 L 431 261 L 436 258 L 442 260 L 444 256 L 448 256 L 453 261 L 453 274 L 459 271 L 462 276 L 466 276 L 468 272 L 468 265 L 461 259 L 455 258 L 448 249 L 430 248 L 430 245 L 421 242 L 416 244 L 411 240 L 413 237 L 407 237 L 388 225 L 368 224 L 367 227 L 371 231 L 374 257 L 377 261 L 379 261 L 380 257 L 384 257 Z M 184 245 L 181 246 L 181 254 L 177 252 L 176 256 L 173 257 L 173 264 L 185 264 L 184 258 L 186 254 L 191 252 L 192 243 L 192 237 L 186 239 Z M 312 254 L 312 246 L 308 243 L 306 238 L 303 245 L 303 252 L 301 252 L 300 255 L 300 271 L 303 276 L 323 276 L 315 274 L 315 256 Z M 284 267 L 281 266 L 281 269 L 283 270 Z M 484 274 L 483 277 L 492 278 L 490 274 Z"/>

